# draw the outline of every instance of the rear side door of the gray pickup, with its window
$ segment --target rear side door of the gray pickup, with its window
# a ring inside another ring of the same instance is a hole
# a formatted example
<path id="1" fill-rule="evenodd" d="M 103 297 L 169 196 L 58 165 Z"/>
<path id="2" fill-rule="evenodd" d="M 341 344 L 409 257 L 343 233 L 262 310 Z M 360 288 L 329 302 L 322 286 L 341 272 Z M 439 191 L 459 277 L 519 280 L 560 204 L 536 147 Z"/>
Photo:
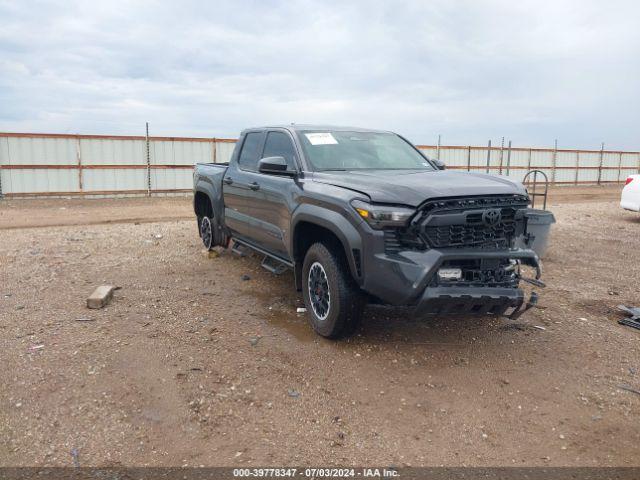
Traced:
<path id="1" fill-rule="evenodd" d="M 258 170 L 258 160 L 264 144 L 264 131 L 248 132 L 242 139 L 240 152 L 232 159 L 222 180 L 224 194 L 225 224 L 233 235 L 241 239 L 251 239 L 255 223 L 256 186 L 254 175 Z"/>

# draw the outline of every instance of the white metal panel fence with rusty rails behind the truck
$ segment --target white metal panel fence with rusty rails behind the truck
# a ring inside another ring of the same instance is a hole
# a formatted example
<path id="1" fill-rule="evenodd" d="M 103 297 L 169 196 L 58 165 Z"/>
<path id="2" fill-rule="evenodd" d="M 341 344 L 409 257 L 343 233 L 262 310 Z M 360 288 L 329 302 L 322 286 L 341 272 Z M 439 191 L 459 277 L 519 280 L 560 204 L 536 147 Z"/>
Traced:
<path id="1" fill-rule="evenodd" d="M 152 195 L 188 192 L 198 162 L 226 162 L 234 139 L 0 133 L 0 196 Z M 420 145 L 447 168 L 552 184 L 624 182 L 640 152 Z"/>

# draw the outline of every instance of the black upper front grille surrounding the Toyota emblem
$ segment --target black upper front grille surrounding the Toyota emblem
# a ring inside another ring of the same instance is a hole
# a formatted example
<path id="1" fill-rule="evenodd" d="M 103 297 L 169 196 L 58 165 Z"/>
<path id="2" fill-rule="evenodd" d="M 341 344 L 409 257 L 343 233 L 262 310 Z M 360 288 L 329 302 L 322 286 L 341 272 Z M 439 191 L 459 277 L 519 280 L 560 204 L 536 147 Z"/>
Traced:
<path id="1" fill-rule="evenodd" d="M 522 195 L 432 201 L 422 207 L 414 225 L 431 248 L 510 248 L 524 231 L 524 217 L 518 211 L 524 212 L 527 201 Z M 495 225 L 483 220 L 489 209 L 500 211 L 501 220 Z"/>

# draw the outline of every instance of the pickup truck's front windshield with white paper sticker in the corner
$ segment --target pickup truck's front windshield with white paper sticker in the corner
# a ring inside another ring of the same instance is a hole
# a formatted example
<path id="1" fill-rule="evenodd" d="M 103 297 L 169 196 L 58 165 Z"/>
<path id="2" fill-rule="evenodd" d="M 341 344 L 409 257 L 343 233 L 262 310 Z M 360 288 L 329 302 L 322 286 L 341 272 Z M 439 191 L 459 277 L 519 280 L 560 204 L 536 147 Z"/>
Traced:
<path id="1" fill-rule="evenodd" d="M 434 170 L 394 133 L 305 130 L 299 132 L 305 156 L 322 170 Z"/>

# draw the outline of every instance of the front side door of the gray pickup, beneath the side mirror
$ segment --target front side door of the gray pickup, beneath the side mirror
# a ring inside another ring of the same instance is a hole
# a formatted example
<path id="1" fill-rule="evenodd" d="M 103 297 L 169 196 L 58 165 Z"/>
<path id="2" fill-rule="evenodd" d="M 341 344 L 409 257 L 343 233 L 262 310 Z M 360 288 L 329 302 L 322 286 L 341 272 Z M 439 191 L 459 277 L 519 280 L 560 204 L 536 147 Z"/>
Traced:
<path id="1" fill-rule="evenodd" d="M 289 171 L 298 171 L 298 154 L 286 130 L 269 130 L 261 158 L 284 157 Z M 290 259 L 287 251 L 294 192 L 299 188 L 290 175 L 252 173 L 251 183 L 257 190 L 250 197 L 254 227 L 251 238 L 265 250 Z"/>

